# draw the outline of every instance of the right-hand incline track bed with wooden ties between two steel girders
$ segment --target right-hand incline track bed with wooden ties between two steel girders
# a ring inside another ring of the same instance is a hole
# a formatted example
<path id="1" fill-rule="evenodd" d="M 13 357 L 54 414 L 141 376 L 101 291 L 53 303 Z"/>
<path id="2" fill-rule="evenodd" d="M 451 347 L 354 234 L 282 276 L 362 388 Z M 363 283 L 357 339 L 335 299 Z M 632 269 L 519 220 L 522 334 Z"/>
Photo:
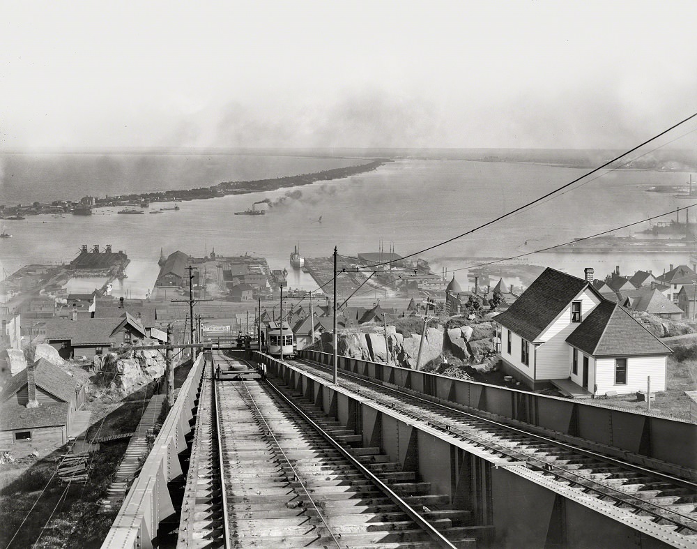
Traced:
<path id="1" fill-rule="evenodd" d="M 333 370 L 323 364 L 305 359 L 286 363 L 333 380 Z M 618 520 L 634 515 L 649 521 L 652 529 L 660 529 L 670 536 L 677 546 L 697 544 L 697 484 L 693 481 L 527 433 L 362 376 L 339 372 L 339 377 L 343 389 L 471 442 L 500 459 L 542 473 L 546 479 L 579 490 L 599 502 L 610 503 Z"/>

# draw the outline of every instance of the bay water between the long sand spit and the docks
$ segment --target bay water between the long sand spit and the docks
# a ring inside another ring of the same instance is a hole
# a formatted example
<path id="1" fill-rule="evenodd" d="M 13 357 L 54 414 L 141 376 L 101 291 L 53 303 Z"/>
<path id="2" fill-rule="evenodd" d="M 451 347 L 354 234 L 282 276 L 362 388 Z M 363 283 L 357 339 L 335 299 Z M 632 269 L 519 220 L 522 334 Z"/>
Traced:
<path id="1" fill-rule="evenodd" d="M 291 195 L 281 189 L 183 202 L 180 211 L 159 215 L 121 216 L 116 209 L 98 209 L 86 217 L 36 216 L 8 226 L 15 236 L 0 242 L 0 266 L 12 272 L 29 262 L 69 261 L 82 244 L 99 243 L 103 248 L 109 243 L 132 260 L 126 271 L 129 278 L 115 285 L 114 294 L 137 297 L 155 282 L 160 248 L 165 255 L 182 250 L 198 257 L 215 248 L 219 255 L 267 257 L 272 269 L 289 270 L 291 287 L 311 289 L 316 287 L 312 280 L 289 266 L 289 254 L 298 243 L 306 257 L 328 257 L 334 246 L 344 255 L 374 252 L 380 241 L 385 250 L 394 246 L 396 253 L 409 255 L 487 223 L 584 172 L 533 163 L 399 158 L 374 172 L 314 183 L 293 189 Z M 443 266 L 463 269 L 457 278 L 466 286 L 464 268 L 473 264 L 458 257 L 517 255 L 674 210 L 687 204 L 646 189 L 686 180 L 687 174 L 680 172 L 615 170 L 421 257 L 436 272 Z M 283 197 L 266 216 L 233 215 L 257 200 L 278 202 Z M 648 223 L 631 231 L 645 227 Z M 626 236 L 629 231 L 617 234 Z M 687 263 L 689 253 L 544 253 L 527 261 L 576 276 L 592 266 L 603 278 L 615 265 L 623 273 L 661 272 L 671 263 Z"/>

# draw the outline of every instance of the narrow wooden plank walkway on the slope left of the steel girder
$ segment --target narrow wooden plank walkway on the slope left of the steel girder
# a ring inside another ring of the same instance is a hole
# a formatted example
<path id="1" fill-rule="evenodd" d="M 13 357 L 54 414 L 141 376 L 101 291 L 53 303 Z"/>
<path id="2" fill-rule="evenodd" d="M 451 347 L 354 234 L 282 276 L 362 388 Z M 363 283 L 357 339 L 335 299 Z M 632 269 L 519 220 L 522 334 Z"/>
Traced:
<path id="1" fill-rule="evenodd" d="M 157 423 L 160 412 L 162 412 L 162 405 L 164 405 L 164 400 L 166 399 L 166 395 L 155 395 L 151 398 L 150 404 L 148 404 L 141 417 L 135 433 L 132 433 L 128 448 L 126 448 L 121 463 L 118 465 L 118 469 L 116 469 L 112 485 L 107 490 L 107 497 L 102 499 L 99 509 L 100 513 L 116 512 L 121 507 L 128 488 L 130 488 L 133 479 L 139 472 L 141 459 L 149 451 L 148 430 L 151 430 Z"/>

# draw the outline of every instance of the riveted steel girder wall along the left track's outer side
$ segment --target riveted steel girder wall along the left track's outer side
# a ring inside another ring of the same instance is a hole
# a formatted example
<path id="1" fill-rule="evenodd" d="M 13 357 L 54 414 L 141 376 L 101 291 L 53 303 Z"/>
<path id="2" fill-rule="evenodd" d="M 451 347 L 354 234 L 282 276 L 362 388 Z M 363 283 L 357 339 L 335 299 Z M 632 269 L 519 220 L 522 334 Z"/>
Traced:
<path id="1" fill-rule="evenodd" d="M 194 362 L 169 410 L 153 449 L 123 500 L 102 549 L 150 548 L 162 519 L 174 513 L 167 482 L 181 474 L 178 453 L 190 432 L 194 399 L 204 372 L 204 354 Z"/>

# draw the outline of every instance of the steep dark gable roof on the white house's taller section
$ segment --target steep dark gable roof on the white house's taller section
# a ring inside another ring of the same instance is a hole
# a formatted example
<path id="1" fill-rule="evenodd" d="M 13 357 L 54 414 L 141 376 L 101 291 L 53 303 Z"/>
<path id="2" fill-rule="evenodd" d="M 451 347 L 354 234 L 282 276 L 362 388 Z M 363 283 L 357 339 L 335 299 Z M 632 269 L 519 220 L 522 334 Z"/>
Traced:
<path id="1" fill-rule="evenodd" d="M 493 319 L 521 338 L 535 341 L 586 287 L 602 299 L 583 278 L 548 267 L 512 306 Z"/>

